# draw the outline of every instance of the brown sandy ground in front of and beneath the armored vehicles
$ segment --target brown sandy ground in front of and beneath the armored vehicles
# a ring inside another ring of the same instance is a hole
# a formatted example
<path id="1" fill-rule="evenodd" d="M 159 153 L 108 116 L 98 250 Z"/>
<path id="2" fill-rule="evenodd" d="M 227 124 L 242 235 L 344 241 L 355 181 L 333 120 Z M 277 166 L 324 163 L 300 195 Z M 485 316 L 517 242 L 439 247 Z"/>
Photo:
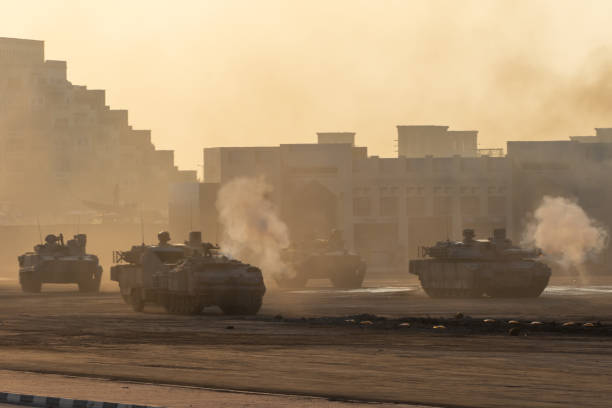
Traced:
<path id="1" fill-rule="evenodd" d="M 41 295 L 26 295 L 4 281 L 0 368 L 99 378 L 115 386 L 136 381 L 362 402 L 610 406 L 609 282 L 573 287 L 553 280 L 541 298 L 528 300 L 429 299 L 410 279 L 369 280 L 366 286 L 270 290 L 260 315 L 230 318 L 216 308 L 193 317 L 155 307 L 138 314 L 114 291 L 83 296 L 49 286 Z M 463 319 L 455 318 L 458 312 Z M 354 316 L 361 313 L 373 316 Z M 496 323 L 484 324 L 484 318 Z M 511 319 L 521 322 L 519 336 L 508 335 Z M 359 324 L 365 320 L 372 324 Z M 531 327 L 532 320 L 544 328 Z M 399 326 L 408 321 L 411 327 Z M 568 321 L 576 324 L 563 327 Z M 436 323 L 446 329 L 433 329 Z M 97 389 L 82 388 L 92 395 Z"/>

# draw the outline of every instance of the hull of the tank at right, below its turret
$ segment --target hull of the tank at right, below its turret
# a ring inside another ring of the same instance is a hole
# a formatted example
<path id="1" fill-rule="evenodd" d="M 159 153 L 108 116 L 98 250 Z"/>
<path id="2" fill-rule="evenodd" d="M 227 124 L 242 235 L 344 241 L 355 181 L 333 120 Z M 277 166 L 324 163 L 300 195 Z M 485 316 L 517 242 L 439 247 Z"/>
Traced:
<path id="1" fill-rule="evenodd" d="M 410 261 L 410 273 L 417 275 L 430 297 L 538 297 L 548 285 L 551 272 L 532 260 Z"/>

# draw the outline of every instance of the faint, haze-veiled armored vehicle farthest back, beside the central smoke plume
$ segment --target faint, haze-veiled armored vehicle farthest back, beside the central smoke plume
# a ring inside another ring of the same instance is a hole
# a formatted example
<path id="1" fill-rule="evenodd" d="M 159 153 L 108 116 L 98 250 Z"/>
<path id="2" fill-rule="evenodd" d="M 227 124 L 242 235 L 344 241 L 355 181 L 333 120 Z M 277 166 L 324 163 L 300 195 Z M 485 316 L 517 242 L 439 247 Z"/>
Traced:
<path id="1" fill-rule="evenodd" d="M 303 288 L 309 279 L 329 279 L 335 288 L 360 288 L 366 264 L 344 248 L 340 231 L 330 238 L 292 245 L 283 250 L 281 260 L 288 270 L 275 280 L 281 288 Z"/>

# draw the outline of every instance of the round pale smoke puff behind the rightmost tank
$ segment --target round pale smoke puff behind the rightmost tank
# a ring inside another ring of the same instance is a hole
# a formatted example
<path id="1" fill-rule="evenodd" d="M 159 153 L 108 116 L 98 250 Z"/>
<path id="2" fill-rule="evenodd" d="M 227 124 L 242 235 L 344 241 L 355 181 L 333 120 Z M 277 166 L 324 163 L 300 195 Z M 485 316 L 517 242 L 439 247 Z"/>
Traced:
<path id="1" fill-rule="evenodd" d="M 574 201 L 545 196 L 533 213 L 523 243 L 537 246 L 563 269 L 578 269 L 607 245 L 608 233 Z"/>

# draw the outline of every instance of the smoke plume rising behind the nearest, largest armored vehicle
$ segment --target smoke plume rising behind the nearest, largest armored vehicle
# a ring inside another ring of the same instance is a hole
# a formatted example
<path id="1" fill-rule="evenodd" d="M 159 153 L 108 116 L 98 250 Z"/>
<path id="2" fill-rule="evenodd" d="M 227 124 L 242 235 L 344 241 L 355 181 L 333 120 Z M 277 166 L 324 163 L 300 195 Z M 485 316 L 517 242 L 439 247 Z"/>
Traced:
<path id="1" fill-rule="evenodd" d="M 280 252 L 290 242 L 287 225 L 267 198 L 271 192 L 263 178 L 237 178 L 221 188 L 216 202 L 222 250 L 258 266 L 266 276 L 287 272 Z"/>

